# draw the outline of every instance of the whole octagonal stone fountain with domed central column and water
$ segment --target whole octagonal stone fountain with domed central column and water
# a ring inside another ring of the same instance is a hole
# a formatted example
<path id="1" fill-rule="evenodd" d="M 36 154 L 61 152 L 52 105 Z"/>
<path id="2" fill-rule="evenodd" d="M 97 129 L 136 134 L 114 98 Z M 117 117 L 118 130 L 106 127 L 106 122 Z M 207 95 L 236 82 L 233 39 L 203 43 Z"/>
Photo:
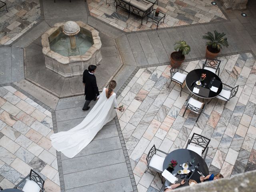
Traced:
<path id="1" fill-rule="evenodd" d="M 102 60 L 98 31 L 80 21 L 56 23 L 41 42 L 46 68 L 64 78 L 80 76 Z"/>

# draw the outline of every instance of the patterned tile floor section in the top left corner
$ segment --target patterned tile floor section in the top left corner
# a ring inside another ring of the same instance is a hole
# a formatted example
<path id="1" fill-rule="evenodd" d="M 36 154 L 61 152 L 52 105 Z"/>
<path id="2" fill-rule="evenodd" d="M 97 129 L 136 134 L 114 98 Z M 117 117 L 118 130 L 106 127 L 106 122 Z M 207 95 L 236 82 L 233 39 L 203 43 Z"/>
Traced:
<path id="1" fill-rule="evenodd" d="M 0 12 L 0 45 L 11 44 L 41 19 L 39 0 L 2 1 L 9 12 Z"/>

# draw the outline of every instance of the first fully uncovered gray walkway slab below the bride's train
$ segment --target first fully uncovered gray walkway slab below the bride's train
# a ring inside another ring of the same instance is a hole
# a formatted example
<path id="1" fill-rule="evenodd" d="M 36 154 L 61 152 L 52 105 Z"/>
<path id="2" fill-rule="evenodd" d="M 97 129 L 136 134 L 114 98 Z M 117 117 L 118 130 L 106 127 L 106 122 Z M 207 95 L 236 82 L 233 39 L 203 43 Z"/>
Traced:
<path id="1" fill-rule="evenodd" d="M 109 166 L 125 162 L 122 149 L 112 150 L 62 161 L 63 174 Z"/>

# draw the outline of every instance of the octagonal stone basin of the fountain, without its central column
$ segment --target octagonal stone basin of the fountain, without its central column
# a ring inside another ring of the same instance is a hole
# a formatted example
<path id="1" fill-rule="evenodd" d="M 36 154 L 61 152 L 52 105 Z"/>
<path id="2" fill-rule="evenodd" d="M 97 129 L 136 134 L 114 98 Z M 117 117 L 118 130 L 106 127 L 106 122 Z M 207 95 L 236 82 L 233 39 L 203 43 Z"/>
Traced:
<path id="1" fill-rule="evenodd" d="M 98 65 L 102 60 L 100 53 L 102 44 L 99 33 L 91 26 L 77 21 L 76 24 L 80 26 L 80 34 L 78 34 L 78 36 L 79 38 L 82 38 L 83 36 L 86 37 L 88 43 L 85 44 L 87 48 L 85 48 L 85 46 L 82 46 L 81 48 L 78 46 L 78 52 L 69 54 L 69 51 L 65 50 L 65 48 L 53 48 L 54 42 L 58 43 L 58 41 L 64 41 L 61 39 L 63 38 L 62 30 L 64 24 L 65 23 L 56 23 L 42 35 L 41 42 L 43 46 L 42 52 L 45 58 L 45 66 L 64 78 L 80 76 L 89 65 Z M 77 41 L 79 42 L 80 39 Z M 68 48 L 68 42 L 65 43 Z"/>

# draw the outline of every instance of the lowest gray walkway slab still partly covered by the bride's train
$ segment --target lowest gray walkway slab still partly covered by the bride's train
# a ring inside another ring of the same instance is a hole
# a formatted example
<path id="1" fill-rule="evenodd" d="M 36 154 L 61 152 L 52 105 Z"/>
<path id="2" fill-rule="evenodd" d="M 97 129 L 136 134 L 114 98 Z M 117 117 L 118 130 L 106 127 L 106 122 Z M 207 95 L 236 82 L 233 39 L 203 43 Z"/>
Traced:
<path id="1" fill-rule="evenodd" d="M 106 152 L 106 151 L 111 151 L 111 150 L 117 150 L 117 149 L 121 149 L 121 148 L 122 148 L 122 146 L 120 143 L 120 138 L 118 136 L 110 137 L 110 138 L 100 139 L 100 140 L 90 142 L 88 144 L 88 146 L 86 146 L 75 157 L 81 157 L 81 156 L 86 156 L 86 155 L 90 155 L 90 154 L 96 154 L 96 153 L 101 153 L 101 152 Z M 68 159 L 68 157 L 61 154 L 61 159 L 65 160 L 65 159 Z"/>

